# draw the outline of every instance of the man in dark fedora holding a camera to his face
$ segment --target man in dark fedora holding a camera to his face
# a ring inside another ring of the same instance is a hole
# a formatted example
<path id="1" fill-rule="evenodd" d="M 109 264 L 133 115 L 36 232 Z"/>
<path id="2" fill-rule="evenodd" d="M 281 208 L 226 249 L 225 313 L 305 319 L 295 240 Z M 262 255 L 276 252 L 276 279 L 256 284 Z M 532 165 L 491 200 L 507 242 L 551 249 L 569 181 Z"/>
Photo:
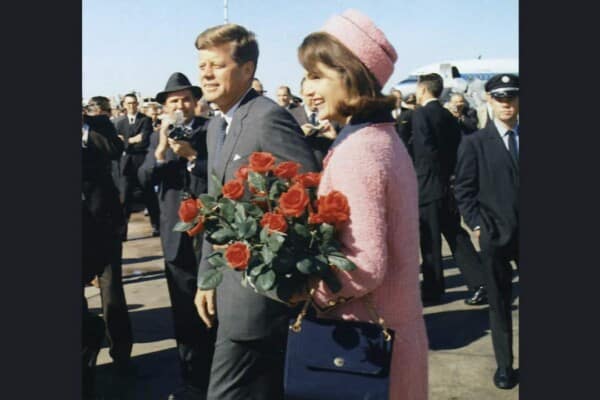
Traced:
<path id="1" fill-rule="evenodd" d="M 160 239 L 165 257 L 165 275 L 171 299 L 175 340 L 179 351 L 183 387 L 170 400 L 204 399 L 208 387 L 214 348 L 214 329 L 200 320 L 194 306 L 201 238 L 174 232 L 183 193 L 199 195 L 207 189 L 206 126 L 208 119 L 194 116 L 202 91 L 192 86 L 179 72 L 172 74 L 165 90 L 156 95 L 171 120 L 175 112 L 183 113 L 187 139 L 168 138 L 168 120 L 158 135 L 153 135 L 150 149 L 139 171 L 144 183 L 158 185 L 160 202 Z"/>

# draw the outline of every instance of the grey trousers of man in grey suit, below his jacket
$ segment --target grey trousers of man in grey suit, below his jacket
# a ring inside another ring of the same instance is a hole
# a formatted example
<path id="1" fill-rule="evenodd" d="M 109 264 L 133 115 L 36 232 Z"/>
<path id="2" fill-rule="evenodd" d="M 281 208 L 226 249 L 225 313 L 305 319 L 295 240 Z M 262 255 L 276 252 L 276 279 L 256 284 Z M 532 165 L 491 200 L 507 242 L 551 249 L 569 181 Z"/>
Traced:
<path id="1" fill-rule="evenodd" d="M 208 400 L 283 399 L 285 337 L 252 341 L 219 338 Z"/>

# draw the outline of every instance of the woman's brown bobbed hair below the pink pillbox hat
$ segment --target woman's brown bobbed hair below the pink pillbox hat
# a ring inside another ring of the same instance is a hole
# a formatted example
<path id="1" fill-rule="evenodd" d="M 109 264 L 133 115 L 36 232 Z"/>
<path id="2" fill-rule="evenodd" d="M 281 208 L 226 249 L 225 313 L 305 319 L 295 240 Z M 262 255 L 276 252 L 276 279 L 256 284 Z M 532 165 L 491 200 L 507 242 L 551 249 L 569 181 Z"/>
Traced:
<path id="1" fill-rule="evenodd" d="M 339 105 L 338 112 L 361 120 L 394 108 L 396 98 L 381 93 L 381 86 L 371 71 L 334 36 L 325 32 L 308 35 L 298 48 L 300 64 L 309 73 L 318 73 L 321 62 L 342 76 L 348 98 Z"/>

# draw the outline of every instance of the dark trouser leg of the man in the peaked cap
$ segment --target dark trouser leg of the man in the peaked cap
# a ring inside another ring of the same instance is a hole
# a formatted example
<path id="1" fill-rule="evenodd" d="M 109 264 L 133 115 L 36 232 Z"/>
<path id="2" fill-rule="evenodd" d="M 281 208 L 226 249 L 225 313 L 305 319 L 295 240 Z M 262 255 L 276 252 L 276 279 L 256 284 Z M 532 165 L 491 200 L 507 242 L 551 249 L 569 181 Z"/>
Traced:
<path id="1" fill-rule="evenodd" d="M 481 252 L 496 363 L 499 367 L 511 367 L 513 363 L 512 267 L 505 255 L 505 249 L 482 243 Z"/>

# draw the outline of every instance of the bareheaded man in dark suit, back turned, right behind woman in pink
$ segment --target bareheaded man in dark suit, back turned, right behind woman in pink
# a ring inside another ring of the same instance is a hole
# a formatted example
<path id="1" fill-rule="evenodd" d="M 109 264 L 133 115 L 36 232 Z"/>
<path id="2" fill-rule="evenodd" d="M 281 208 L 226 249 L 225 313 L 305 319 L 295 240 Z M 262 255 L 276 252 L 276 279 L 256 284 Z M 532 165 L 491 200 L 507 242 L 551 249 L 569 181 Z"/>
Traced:
<path id="1" fill-rule="evenodd" d="M 460 215 L 450 190 L 461 133 L 456 119 L 440 104 L 443 88 L 438 74 L 421 75 L 412 117 L 415 170 L 419 183 L 419 219 L 423 256 L 423 301 L 437 303 L 444 294 L 443 234 L 473 295 L 469 305 L 485 301 L 483 271 L 469 234 L 460 226 Z"/>

